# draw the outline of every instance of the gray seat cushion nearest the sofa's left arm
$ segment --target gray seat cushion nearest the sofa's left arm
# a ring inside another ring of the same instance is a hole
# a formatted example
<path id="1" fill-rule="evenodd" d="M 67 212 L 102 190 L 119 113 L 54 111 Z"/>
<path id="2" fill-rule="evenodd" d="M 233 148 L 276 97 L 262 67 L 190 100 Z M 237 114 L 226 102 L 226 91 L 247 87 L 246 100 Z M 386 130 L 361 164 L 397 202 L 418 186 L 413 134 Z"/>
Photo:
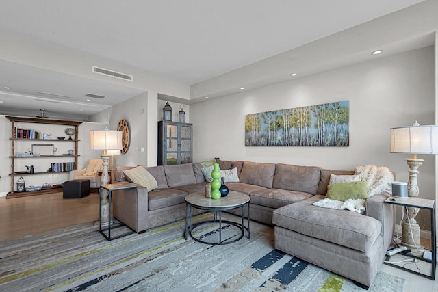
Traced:
<path id="1" fill-rule="evenodd" d="M 153 211 L 185 202 L 188 194 L 179 189 L 154 189 L 148 193 L 148 210 Z"/>

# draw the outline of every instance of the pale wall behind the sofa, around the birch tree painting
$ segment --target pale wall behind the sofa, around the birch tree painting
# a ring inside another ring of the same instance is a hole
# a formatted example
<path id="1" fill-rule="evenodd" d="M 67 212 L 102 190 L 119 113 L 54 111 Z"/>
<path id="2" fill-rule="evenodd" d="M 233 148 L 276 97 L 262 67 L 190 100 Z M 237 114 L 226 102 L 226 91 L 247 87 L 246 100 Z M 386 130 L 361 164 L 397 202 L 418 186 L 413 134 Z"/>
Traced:
<path id="1" fill-rule="evenodd" d="M 352 170 L 386 165 L 407 181 L 407 155 L 389 153 L 389 128 L 435 124 L 434 49 L 426 47 L 372 62 L 292 79 L 190 106 L 194 161 L 214 157 Z M 245 147 L 246 114 L 350 101 L 349 147 Z M 435 199 L 435 156 L 419 175 L 422 198 Z"/>

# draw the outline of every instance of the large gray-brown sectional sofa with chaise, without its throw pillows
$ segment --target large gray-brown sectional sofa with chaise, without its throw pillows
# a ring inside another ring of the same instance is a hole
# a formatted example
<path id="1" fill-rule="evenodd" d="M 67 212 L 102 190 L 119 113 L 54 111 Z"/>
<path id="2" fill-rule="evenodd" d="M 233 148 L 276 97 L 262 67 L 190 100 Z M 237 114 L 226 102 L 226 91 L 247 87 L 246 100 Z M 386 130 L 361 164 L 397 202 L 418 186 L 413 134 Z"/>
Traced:
<path id="1" fill-rule="evenodd" d="M 250 219 L 274 226 L 275 248 L 355 281 L 367 288 L 383 262 L 394 233 L 394 207 L 384 204 L 388 193 L 366 200 L 366 214 L 326 209 L 313 203 L 325 198 L 331 174 L 353 170 L 326 170 L 315 166 L 216 159 L 221 170 L 237 168 L 239 182 L 227 183 L 250 196 Z M 149 190 L 114 194 L 113 213 L 140 233 L 185 217 L 185 196 L 205 191 L 206 163 L 160 165 L 146 168 L 157 181 Z M 115 181 L 126 181 L 118 166 Z M 196 209 L 195 209 L 196 210 Z M 199 210 L 198 212 L 202 212 Z"/>

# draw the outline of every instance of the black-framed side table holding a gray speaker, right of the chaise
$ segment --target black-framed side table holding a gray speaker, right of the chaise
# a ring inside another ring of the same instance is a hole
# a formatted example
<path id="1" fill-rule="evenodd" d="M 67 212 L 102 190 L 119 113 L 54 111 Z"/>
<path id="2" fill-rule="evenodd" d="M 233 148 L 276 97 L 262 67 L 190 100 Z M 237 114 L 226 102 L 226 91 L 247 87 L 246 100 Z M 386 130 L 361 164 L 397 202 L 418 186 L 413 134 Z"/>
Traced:
<path id="1" fill-rule="evenodd" d="M 420 208 L 420 209 L 426 209 L 430 211 L 430 226 L 431 226 L 431 235 L 430 235 L 430 249 L 432 252 L 432 259 L 429 260 L 427 258 L 420 258 L 418 256 L 414 256 L 412 254 L 404 254 L 404 256 L 409 256 L 411 258 L 417 258 L 420 261 L 425 261 L 427 263 L 430 263 L 431 272 L 430 275 L 423 274 L 419 271 L 413 271 L 411 269 L 407 269 L 406 267 L 401 267 L 398 265 L 395 265 L 393 263 L 385 263 L 387 265 L 391 265 L 393 267 L 397 267 L 398 269 L 404 269 L 405 271 L 409 271 L 413 274 L 418 274 L 420 276 L 423 276 L 425 278 L 428 278 L 430 280 L 435 280 L 435 271 L 437 268 L 437 243 L 436 243 L 436 225 L 435 225 L 435 200 L 429 200 L 429 199 L 422 199 L 422 198 L 396 198 L 396 197 L 389 197 L 387 200 L 385 200 L 385 204 L 395 204 L 402 207 L 414 207 L 414 208 Z M 391 256 L 385 256 L 386 261 L 389 261 L 389 258 Z"/>

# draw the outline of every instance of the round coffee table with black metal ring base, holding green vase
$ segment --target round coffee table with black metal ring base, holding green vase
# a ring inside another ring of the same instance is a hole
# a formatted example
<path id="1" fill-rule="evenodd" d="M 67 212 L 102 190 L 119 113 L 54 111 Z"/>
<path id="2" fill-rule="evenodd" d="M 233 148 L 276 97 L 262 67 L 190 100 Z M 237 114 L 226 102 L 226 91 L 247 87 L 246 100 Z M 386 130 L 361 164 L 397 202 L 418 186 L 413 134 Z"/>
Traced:
<path id="1" fill-rule="evenodd" d="M 228 196 L 222 197 L 219 200 L 213 200 L 211 198 L 205 197 L 205 192 L 198 191 L 196 193 L 190 194 L 188 196 L 185 196 L 185 233 L 184 238 L 188 239 L 188 235 L 192 237 L 192 239 L 206 244 L 214 244 L 214 245 L 222 245 L 222 244 L 229 244 L 236 241 L 239 241 L 244 237 L 245 229 L 248 233 L 248 239 L 250 238 L 251 234 L 249 231 L 249 201 L 250 197 L 244 193 L 241 193 L 240 191 L 229 191 Z M 245 204 L 248 205 L 248 226 L 244 226 L 244 206 Z M 198 222 L 196 224 L 192 224 L 192 208 L 206 210 L 206 211 L 213 211 L 214 212 L 214 219 Z M 222 220 L 222 211 L 232 210 L 242 208 L 242 224 L 238 224 L 236 222 L 228 221 L 228 220 Z M 219 213 L 219 215 L 218 215 Z M 192 235 L 192 231 L 197 226 L 203 225 L 203 224 L 209 224 L 209 223 L 219 223 L 219 242 L 207 242 L 203 241 L 202 239 L 198 239 Z M 241 231 L 240 237 L 237 237 L 237 239 L 234 239 L 232 241 L 222 241 L 222 223 L 231 224 L 233 226 L 237 226 L 239 230 Z"/>

